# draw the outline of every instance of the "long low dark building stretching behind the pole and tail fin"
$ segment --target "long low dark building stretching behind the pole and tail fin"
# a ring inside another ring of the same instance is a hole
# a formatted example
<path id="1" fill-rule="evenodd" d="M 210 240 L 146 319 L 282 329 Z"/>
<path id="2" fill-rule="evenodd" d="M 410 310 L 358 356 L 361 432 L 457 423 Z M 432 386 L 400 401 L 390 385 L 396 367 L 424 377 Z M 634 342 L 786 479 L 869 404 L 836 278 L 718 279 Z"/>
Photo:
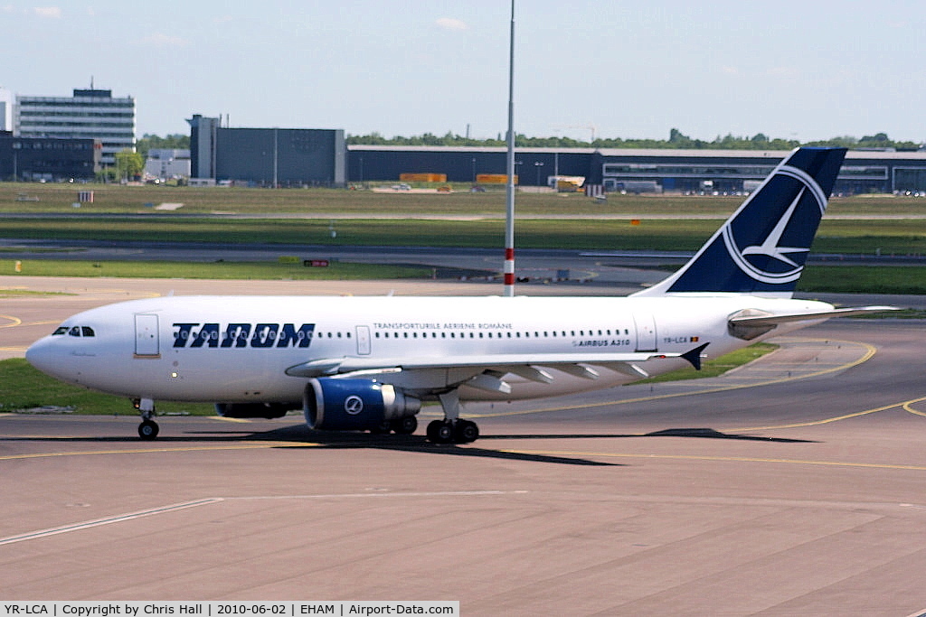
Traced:
<path id="1" fill-rule="evenodd" d="M 751 191 L 787 155 L 753 150 L 634 150 L 517 148 L 520 186 L 550 186 L 557 176 L 584 177 L 605 191 Z M 506 173 L 504 147 L 348 147 L 350 182 L 394 181 L 402 174 L 445 175 L 450 182 L 477 183 L 483 174 Z M 926 152 L 850 150 L 834 193 L 926 191 Z"/>

